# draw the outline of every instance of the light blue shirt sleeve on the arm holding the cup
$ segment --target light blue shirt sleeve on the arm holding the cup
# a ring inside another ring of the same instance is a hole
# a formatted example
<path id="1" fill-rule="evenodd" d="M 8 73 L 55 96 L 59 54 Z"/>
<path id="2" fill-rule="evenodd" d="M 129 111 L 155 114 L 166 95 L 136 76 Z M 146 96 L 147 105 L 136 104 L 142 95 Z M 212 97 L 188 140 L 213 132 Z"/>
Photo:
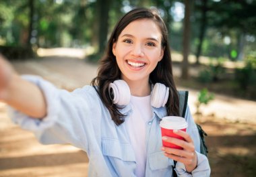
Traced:
<path id="1" fill-rule="evenodd" d="M 211 170 L 210 170 L 209 161 L 205 155 L 199 153 L 200 152 L 199 132 L 197 129 L 197 125 L 195 125 L 195 121 L 190 113 L 189 107 L 187 107 L 185 119 L 187 120 L 187 123 L 188 123 L 187 133 L 191 135 L 191 138 L 193 139 L 193 142 L 195 145 L 195 152 L 197 154 L 197 167 L 191 173 L 188 173 L 186 171 L 185 165 L 181 162 L 177 162 L 174 170 L 177 172 L 178 176 L 182 176 L 182 177 L 210 176 Z"/>

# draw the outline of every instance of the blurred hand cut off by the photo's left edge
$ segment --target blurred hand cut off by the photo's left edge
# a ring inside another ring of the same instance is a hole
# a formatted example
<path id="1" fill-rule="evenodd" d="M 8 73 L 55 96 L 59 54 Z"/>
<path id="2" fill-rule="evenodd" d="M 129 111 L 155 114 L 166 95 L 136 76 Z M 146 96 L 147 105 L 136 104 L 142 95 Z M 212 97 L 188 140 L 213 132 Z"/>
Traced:
<path id="1" fill-rule="evenodd" d="M 11 64 L 5 60 L 0 54 L 0 101 L 6 99 L 7 88 L 14 76 L 15 72 L 11 67 Z"/>

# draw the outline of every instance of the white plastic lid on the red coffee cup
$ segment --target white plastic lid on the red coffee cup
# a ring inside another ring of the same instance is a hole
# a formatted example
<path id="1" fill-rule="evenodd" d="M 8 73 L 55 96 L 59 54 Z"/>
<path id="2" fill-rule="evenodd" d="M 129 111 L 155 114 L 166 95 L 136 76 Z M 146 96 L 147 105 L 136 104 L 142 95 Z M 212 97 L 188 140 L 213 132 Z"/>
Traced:
<path id="1" fill-rule="evenodd" d="M 185 129 L 187 128 L 187 121 L 183 117 L 166 116 L 160 121 L 160 127 L 164 129 Z"/>

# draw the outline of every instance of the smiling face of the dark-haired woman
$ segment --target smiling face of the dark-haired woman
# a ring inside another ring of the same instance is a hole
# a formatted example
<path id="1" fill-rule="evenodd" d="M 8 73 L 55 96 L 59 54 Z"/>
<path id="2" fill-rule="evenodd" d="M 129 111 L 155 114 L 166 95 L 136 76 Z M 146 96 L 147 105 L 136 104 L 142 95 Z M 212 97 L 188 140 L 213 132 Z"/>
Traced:
<path id="1" fill-rule="evenodd" d="M 128 84 L 148 84 L 150 73 L 164 54 L 161 40 L 161 31 L 151 19 L 138 19 L 129 23 L 113 44 L 121 78 Z"/>

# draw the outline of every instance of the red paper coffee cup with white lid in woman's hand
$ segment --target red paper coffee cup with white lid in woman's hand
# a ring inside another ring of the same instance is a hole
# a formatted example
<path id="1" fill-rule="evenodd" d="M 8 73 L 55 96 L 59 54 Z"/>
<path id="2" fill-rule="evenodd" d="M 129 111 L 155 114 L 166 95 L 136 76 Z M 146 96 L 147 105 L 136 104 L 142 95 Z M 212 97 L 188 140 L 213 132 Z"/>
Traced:
<path id="1" fill-rule="evenodd" d="M 184 139 L 183 137 L 173 133 L 173 130 L 179 129 L 182 131 L 186 131 L 187 122 L 183 117 L 167 116 L 162 118 L 162 121 L 160 122 L 160 127 L 161 127 L 162 137 L 168 136 L 168 137 L 175 137 L 178 139 Z M 168 148 L 183 150 L 181 146 L 166 142 L 164 140 L 162 141 L 162 145 Z"/>

